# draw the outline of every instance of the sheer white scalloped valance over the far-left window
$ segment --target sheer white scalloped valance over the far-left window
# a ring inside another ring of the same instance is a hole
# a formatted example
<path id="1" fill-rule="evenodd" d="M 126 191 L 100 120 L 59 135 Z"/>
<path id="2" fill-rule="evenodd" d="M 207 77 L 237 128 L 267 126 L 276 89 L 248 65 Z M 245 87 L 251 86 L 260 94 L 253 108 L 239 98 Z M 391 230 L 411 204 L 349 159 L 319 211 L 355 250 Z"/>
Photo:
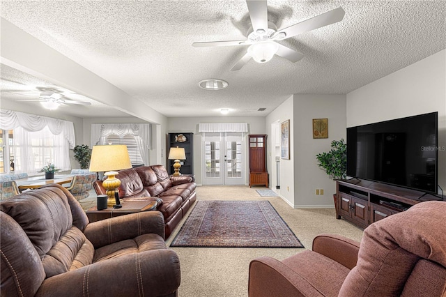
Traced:
<path id="1" fill-rule="evenodd" d="M 13 112 L 12 110 L 0 109 L 0 129 L 13 130 L 23 128 L 30 132 L 36 132 L 48 127 L 54 135 L 63 133 L 70 149 L 75 148 L 75 125 L 70 121 L 53 119 L 36 114 L 25 114 Z"/>

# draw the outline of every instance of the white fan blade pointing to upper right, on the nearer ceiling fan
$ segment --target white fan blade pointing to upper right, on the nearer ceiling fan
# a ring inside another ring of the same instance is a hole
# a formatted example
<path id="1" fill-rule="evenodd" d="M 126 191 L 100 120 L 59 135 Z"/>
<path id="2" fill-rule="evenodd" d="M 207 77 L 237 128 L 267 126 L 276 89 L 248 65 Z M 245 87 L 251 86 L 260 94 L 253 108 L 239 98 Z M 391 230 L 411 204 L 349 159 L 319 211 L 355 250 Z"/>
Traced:
<path id="1" fill-rule="evenodd" d="M 301 33 L 305 33 L 308 31 L 312 31 L 314 29 L 321 28 L 323 26 L 327 26 L 329 24 L 334 24 L 336 22 L 340 22 L 346 12 L 341 7 L 330 10 L 322 15 L 317 15 L 316 17 L 312 17 L 311 19 L 299 22 L 298 24 L 293 24 L 293 26 L 289 26 L 285 29 L 277 31 L 275 35 L 279 35 L 279 33 L 286 33 L 285 38 L 290 38 L 296 36 Z"/>

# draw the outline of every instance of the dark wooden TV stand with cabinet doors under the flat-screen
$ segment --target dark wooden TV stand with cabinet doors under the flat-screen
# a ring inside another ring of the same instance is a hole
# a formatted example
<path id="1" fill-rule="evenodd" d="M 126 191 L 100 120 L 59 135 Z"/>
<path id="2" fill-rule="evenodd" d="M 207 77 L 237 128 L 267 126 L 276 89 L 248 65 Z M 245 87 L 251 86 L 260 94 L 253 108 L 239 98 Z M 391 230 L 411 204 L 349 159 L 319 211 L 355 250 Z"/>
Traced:
<path id="1" fill-rule="evenodd" d="M 422 201 L 441 200 L 421 191 L 357 179 L 337 181 L 336 189 L 337 219 L 342 217 L 362 228 Z"/>

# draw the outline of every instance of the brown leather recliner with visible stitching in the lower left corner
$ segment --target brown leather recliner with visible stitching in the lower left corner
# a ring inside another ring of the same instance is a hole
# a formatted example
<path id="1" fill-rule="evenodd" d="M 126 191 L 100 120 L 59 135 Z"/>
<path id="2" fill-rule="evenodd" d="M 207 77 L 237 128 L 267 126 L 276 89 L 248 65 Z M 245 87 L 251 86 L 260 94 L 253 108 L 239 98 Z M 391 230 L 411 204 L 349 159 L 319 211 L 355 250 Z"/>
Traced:
<path id="1" fill-rule="evenodd" d="M 0 204 L 1 296 L 177 296 L 158 211 L 93 222 L 61 185 Z"/>

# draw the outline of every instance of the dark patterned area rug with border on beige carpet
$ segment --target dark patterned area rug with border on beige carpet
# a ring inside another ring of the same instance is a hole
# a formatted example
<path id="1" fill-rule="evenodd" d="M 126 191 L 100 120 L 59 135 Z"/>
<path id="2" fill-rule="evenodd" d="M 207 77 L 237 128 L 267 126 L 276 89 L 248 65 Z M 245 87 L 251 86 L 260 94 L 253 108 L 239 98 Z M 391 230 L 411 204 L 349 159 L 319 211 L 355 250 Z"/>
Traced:
<path id="1" fill-rule="evenodd" d="M 197 201 L 171 247 L 304 248 L 269 201 Z"/>

